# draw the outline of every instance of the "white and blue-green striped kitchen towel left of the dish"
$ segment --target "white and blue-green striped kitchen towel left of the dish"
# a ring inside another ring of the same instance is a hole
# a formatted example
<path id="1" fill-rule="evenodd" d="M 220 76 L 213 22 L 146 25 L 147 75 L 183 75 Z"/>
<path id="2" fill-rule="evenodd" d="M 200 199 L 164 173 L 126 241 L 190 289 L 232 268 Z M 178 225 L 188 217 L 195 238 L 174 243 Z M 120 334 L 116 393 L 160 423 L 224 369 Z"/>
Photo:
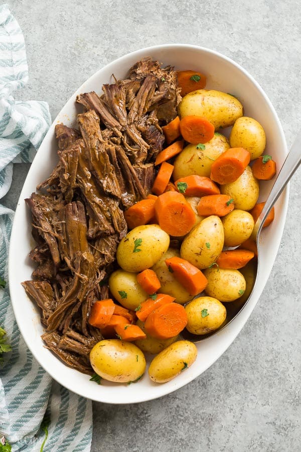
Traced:
<path id="1" fill-rule="evenodd" d="M 0 199 L 8 192 L 13 163 L 32 161 L 51 123 L 46 102 L 16 101 L 12 92 L 28 80 L 22 31 L 7 5 L 0 7 Z M 0 204 L 0 277 L 8 281 L 8 250 L 14 212 Z M 3 283 L 4 285 L 5 283 Z M 0 288 L 0 327 L 12 351 L 0 364 L 0 450 L 88 451 L 91 401 L 51 380 L 26 347 Z M 0 329 L 0 339 L 1 339 Z M 42 425 L 41 425 L 42 424 Z M 47 437 L 47 439 L 46 439 Z M 46 441 L 45 441 L 46 439 Z"/>

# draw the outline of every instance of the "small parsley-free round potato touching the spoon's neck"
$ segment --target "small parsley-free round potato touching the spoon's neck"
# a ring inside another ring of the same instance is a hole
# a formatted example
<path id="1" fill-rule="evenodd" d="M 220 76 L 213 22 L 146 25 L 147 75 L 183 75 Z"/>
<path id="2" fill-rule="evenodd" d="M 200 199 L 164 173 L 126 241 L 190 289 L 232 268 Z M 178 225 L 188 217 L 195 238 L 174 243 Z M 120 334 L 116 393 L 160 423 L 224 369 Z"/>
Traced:
<path id="1" fill-rule="evenodd" d="M 252 234 L 254 218 L 249 212 L 234 209 L 222 218 L 226 247 L 237 247 Z"/>

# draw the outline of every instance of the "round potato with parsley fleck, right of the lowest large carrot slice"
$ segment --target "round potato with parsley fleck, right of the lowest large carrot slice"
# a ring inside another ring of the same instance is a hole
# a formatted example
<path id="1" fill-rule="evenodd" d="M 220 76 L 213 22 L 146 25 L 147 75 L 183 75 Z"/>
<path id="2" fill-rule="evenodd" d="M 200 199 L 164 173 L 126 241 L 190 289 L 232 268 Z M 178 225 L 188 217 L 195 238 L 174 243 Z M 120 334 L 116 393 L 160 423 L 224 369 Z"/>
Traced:
<path id="1" fill-rule="evenodd" d="M 225 306 L 216 298 L 199 297 L 185 306 L 188 323 L 186 328 L 192 334 L 208 334 L 218 329 L 226 318 Z"/>

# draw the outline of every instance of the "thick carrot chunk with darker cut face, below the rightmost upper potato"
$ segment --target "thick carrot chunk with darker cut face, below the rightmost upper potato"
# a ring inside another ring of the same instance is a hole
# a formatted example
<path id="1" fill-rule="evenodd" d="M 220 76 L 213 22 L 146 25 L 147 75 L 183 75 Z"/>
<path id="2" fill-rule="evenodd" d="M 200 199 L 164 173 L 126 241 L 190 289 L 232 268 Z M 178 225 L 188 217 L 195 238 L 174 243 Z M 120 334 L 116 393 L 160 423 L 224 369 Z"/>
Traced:
<path id="1" fill-rule="evenodd" d="M 211 179 L 219 184 L 234 182 L 250 163 L 251 154 L 244 148 L 230 148 L 211 165 Z"/>

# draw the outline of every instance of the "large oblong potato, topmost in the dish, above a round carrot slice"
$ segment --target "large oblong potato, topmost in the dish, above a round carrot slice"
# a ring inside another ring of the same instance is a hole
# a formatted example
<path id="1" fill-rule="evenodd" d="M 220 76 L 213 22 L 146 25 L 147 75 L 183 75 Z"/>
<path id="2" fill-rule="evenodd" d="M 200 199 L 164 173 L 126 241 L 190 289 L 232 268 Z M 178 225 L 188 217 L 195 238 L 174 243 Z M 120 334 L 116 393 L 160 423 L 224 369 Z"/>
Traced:
<path id="1" fill-rule="evenodd" d="M 178 105 L 180 119 L 189 115 L 204 116 L 215 130 L 233 126 L 243 116 L 243 106 L 236 97 L 215 89 L 198 89 L 183 97 Z"/>

